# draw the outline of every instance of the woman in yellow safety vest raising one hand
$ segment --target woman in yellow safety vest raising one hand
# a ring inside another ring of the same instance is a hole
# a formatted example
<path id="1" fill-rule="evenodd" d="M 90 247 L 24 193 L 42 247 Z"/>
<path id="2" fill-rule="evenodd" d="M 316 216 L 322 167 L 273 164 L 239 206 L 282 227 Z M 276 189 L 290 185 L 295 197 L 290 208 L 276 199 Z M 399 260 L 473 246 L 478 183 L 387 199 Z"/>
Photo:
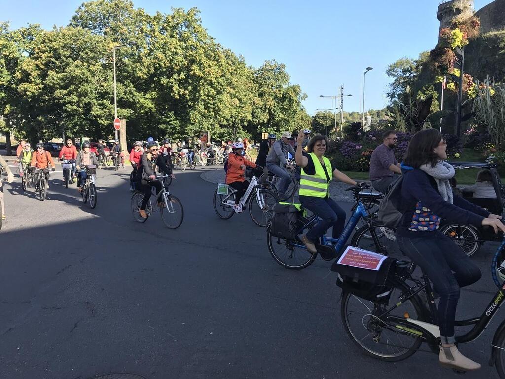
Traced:
<path id="1" fill-rule="evenodd" d="M 308 155 L 302 153 L 304 148 L 304 132 L 300 130 L 297 138 L 295 160 L 301 167 L 300 189 L 298 197 L 304 208 L 314 212 L 319 223 L 302 236 L 301 241 L 311 253 L 316 253 L 316 246 L 320 237 L 333 225 L 333 238 L 339 238 L 345 225 L 345 211 L 330 198 L 330 181 L 332 176 L 344 183 L 357 185 L 358 183 L 331 165 L 324 156 L 328 139 L 320 134 L 309 142 Z"/>

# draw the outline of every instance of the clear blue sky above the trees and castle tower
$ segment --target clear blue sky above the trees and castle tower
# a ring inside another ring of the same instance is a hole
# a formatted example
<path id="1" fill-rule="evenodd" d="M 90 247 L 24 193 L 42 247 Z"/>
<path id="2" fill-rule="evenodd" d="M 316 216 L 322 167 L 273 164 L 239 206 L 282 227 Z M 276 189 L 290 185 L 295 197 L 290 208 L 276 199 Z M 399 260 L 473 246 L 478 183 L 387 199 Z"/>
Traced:
<path id="1" fill-rule="evenodd" d="M 475 9 L 491 3 L 475 0 Z M 0 21 L 17 28 L 40 23 L 45 28 L 68 23 L 82 0 L 0 0 Z M 312 115 L 332 108 L 320 94 L 339 94 L 344 110 L 359 111 L 367 66 L 365 107 L 383 108 L 389 82 L 385 70 L 401 57 L 417 57 L 437 42 L 440 0 L 134 0 L 148 13 L 171 8 L 201 11 L 203 25 L 216 40 L 244 56 L 249 65 L 267 59 L 286 65 L 291 82 L 307 93 Z"/>

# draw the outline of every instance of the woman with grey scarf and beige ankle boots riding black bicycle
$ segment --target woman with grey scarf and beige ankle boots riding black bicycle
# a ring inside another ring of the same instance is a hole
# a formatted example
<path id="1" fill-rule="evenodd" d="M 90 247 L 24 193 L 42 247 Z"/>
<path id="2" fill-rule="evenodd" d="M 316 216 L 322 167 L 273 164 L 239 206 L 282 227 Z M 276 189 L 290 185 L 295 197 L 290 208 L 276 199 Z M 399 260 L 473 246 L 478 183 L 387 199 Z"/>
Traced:
<path id="1" fill-rule="evenodd" d="M 459 196 L 452 195 L 449 179 L 454 168 L 444 162 L 446 141 L 436 129 L 421 130 L 409 144 L 401 165 L 403 214 L 396 231 L 400 249 L 407 254 L 433 283 L 440 296 L 440 364 L 461 370 L 476 370 L 480 364 L 466 358 L 455 346 L 454 320 L 460 288 L 481 277 L 479 268 L 451 239 L 440 233 L 440 219 L 475 226 L 490 225 L 505 232 L 501 217 L 490 214 Z"/>

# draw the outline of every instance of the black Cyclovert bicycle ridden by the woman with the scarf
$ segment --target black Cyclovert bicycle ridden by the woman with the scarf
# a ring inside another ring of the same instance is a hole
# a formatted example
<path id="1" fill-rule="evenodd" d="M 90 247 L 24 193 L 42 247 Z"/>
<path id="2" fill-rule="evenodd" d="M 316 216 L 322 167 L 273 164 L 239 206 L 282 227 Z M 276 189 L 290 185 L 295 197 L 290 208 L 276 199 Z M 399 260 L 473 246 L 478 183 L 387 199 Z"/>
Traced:
<path id="1" fill-rule="evenodd" d="M 409 358 L 425 343 L 438 354 L 440 329 L 433 290 L 428 277 L 412 276 L 412 262 L 396 261 L 386 280 L 387 290 L 373 300 L 343 291 L 340 305 L 342 323 L 352 342 L 365 354 L 383 361 Z M 498 289 L 479 317 L 456 321 L 456 326 L 473 328 L 456 336 L 457 344 L 477 339 L 505 299 L 505 285 Z M 496 329 L 491 343 L 490 364 L 505 379 L 505 320 Z M 456 372 L 463 372 L 456 370 Z"/>

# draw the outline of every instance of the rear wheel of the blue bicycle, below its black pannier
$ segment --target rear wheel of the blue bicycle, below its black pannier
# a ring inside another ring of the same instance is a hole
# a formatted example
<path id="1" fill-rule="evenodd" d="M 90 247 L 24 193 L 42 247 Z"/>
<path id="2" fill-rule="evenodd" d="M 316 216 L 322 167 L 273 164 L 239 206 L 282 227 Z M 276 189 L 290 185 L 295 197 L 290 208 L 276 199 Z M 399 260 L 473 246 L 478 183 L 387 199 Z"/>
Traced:
<path id="1" fill-rule="evenodd" d="M 296 221 L 298 235 L 295 241 L 288 241 L 272 235 L 270 225 L 267 229 L 268 250 L 272 257 L 285 268 L 290 270 L 301 270 L 309 267 L 316 259 L 317 253 L 310 253 L 299 239 L 301 234 L 305 234 L 310 227 L 304 227 L 307 223 L 305 218 Z M 303 228 L 303 229 L 302 229 Z"/>

